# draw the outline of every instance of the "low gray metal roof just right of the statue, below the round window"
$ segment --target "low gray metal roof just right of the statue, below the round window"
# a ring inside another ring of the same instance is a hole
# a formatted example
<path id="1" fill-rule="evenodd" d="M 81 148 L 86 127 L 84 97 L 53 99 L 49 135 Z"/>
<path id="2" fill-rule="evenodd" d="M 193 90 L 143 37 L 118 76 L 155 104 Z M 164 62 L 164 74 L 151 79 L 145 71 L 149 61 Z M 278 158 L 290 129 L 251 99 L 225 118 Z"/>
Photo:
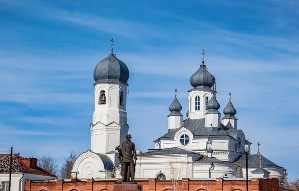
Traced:
<path id="1" fill-rule="evenodd" d="M 146 153 L 140 153 L 139 155 L 146 156 L 146 155 L 171 155 L 171 154 L 196 154 L 200 157 L 203 157 L 199 153 L 196 153 L 191 150 L 182 149 L 179 147 L 171 147 L 166 149 L 149 149 Z"/>

